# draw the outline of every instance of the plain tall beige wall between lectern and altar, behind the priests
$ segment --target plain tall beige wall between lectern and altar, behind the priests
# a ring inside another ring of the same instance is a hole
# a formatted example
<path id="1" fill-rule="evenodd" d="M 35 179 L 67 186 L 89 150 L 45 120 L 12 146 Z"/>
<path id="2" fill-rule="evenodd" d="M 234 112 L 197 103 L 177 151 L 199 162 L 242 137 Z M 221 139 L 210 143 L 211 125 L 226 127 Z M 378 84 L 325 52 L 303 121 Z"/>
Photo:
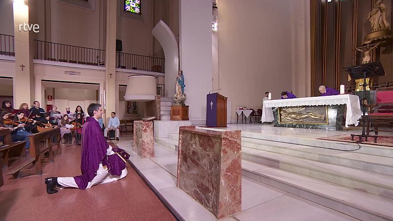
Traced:
<path id="1" fill-rule="evenodd" d="M 265 91 L 280 99 L 292 89 L 291 19 L 288 0 L 248 0 L 241 7 L 219 1 L 217 84 L 231 101 L 232 122 L 238 106 L 261 108 Z"/>

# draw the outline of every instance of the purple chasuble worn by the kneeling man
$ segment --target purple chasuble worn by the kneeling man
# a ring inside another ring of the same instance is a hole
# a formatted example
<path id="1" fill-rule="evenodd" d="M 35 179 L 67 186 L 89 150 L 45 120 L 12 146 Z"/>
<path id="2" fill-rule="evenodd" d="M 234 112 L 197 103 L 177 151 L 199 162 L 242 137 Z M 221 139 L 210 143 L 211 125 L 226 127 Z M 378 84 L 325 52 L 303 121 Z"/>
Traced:
<path id="1" fill-rule="evenodd" d="M 94 117 L 87 117 L 82 131 L 82 175 L 74 177 L 79 189 L 86 189 L 87 183 L 96 176 L 100 163 L 107 166 L 112 175 L 121 175 L 126 164 L 117 154 L 107 156 L 108 147 L 98 121 Z"/>

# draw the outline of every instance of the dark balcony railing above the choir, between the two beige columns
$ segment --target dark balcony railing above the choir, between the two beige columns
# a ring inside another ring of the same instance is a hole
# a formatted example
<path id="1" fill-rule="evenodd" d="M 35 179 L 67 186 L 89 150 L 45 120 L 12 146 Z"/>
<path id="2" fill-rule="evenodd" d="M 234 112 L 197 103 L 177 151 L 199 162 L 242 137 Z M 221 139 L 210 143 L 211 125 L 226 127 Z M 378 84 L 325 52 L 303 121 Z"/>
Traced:
<path id="1" fill-rule="evenodd" d="M 105 50 L 78 47 L 54 42 L 34 40 L 37 45 L 35 59 L 99 65 L 98 59 L 105 60 Z"/>

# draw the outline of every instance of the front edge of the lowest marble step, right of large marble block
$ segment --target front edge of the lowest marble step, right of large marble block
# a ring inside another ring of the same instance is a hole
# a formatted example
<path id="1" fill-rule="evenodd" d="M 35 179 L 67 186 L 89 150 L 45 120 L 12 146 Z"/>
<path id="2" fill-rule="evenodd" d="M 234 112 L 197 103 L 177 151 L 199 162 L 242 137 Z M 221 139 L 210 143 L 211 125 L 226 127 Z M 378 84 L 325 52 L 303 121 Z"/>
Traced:
<path id="1" fill-rule="evenodd" d="M 254 163 L 255 164 L 255 163 Z M 259 164 L 256 164 L 259 165 Z M 273 167 L 265 167 L 265 168 L 270 168 L 273 169 L 275 173 L 285 173 L 285 174 L 292 174 L 297 177 L 297 179 L 306 181 L 307 183 L 319 183 L 318 186 L 323 186 L 323 185 L 329 185 L 329 187 L 336 189 L 337 192 L 349 192 L 352 194 L 356 195 L 363 195 L 365 196 L 364 201 L 348 201 L 344 197 L 341 197 L 341 194 L 337 194 L 335 192 L 335 195 L 332 194 L 332 192 L 325 191 L 324 188 L 320 189 L 312 189 L 309 188 L 308 185 L 301 185 L 301 184 L 296 184 L 294 182 L 289 182 L 286 181 L 285 179 L 280 179 L 277 177 L 274 177 L 272 174 L 267 174 L 267 173 L 262 173 L 260 171 L 256 170 L 251 170 L 247 168 L 242 168 L 242 175 L 245 177 L 248 177 L 250 179 L 253 179 L 255 181 L 264 183 L 266 185 L 272 186 L 274 188 L 280 189 L 282 191 L 292 193 L 296 196 L 302 197 L 304 199 L 307 199 L 311 202 L 318 203 L 320 205 L 323 205 L 325 207 L 331 208 L 333 210 L 336 210 L 338 212 L 344 213 L 348 216 L 360 219 L 360 220 L 393 220 L 393 215 L 392 214 L 386 214 L 381 211 L 375 211 L 374 209 L 370 208 L 367 199 L 373 198 L 374 200 L 377 201 L 384 201 L 384 204 L 388 202 L 393 206 L 393 200 L 388 199 L 382 196 L 374 195 L 371 193 L 365 193 L 361 192 L 358 190 L 354 190 L 348 187 L 340 187 L 335 184 L 331 184 L 326 181 L 319 181 L 315 180 L 313 178 L 309 177 L 304 177 L 303 175 L 298 175 L 298 174 L 293 174 L 291 172 L 283 171 L 281 169 L 273 168 Z M 264 169 L 264 168 L 262 168 Z M 260 169 L 257 169 L 260 170 Z M 293 179 L 295 180 L 295 179 Z M 330 193 L 330 194 L 329 194 Z M 345 194 L 342 194 L 345 195 Z M 335 205 L 334 205 L 335 204 Z M 372 204 L 371 204 L 372 205 Z M 378 208 L 378 207 L 377 207 Z M 355 210 L 355 211 L 354 211 Z"/>

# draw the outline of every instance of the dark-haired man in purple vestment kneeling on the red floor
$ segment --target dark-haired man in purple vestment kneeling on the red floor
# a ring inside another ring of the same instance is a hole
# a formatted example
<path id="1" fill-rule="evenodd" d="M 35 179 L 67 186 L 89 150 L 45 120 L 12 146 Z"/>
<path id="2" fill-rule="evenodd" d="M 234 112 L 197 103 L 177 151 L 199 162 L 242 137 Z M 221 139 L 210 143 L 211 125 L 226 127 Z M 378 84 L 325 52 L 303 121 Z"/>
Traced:
<path id="1" fill-rule="evenodd" d="M 74 177 L 45 178 L 46 191 L 57 193 L 56 189 L 88 189 L 97 184 L 108 183 L 127 175 L 126 164 L 115 154 L 102 134 L 98 119 L 102 118 L 100 104 L 90 104 L 87 108 L 89 117 L 82 131 L 82 175 Z"/>

